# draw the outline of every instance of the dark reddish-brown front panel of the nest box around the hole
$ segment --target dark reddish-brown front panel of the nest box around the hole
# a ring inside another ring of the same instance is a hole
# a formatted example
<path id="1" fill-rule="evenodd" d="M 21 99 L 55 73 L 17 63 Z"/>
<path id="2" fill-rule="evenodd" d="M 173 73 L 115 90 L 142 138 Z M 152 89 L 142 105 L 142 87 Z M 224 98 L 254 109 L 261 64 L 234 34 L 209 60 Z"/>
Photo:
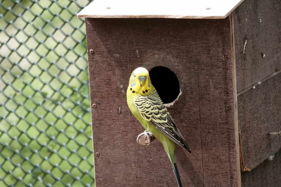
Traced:
<path id="1" fill-rule="evenodd" d="M 229 18 L 86 18 L 86 29 L 96 186 L 177 186 L 160 142 L 136 143 L 143 127 L 126 104 L 131 72 L 155 66 L 180 83 L 168 110 L 192 150 L 177 146 L 183 186 L 237 186 Z"/>

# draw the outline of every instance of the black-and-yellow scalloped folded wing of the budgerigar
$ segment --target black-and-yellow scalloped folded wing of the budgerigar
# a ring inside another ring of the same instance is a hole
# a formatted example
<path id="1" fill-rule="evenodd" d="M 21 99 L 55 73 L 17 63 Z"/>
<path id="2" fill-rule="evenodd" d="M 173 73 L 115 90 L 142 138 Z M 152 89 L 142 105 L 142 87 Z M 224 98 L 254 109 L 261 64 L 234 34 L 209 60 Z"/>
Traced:
<path id="1" fill-rule="evenodd" d="M 150 122 L 176 144 L 191 152 L 155 88 L 148 95 L 136 97 L 134 101 L 138 112 L 145 120 Z"/>

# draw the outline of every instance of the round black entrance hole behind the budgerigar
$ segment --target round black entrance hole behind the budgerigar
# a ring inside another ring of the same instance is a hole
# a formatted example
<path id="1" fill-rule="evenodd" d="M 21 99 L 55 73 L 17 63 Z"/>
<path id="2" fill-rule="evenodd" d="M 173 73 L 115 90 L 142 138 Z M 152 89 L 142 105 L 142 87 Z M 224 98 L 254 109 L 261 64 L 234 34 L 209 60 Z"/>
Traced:
<path id="1" fill-rule="evenodd" d="M 180 93 L 179 80 L 172 70 L 156 66 L 149 70 L 149 76 L 164 104 L 172 103 L 177 99 Z"/>

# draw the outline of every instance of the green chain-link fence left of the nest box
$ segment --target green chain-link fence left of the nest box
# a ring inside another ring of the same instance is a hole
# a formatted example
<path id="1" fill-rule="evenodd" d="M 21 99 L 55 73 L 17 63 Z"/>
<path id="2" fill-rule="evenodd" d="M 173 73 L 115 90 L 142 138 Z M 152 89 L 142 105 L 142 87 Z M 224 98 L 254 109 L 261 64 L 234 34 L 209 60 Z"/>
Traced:
<path id="1" fill-rule="evenodd" d="M 0 186 L 94 186 L 91 0 L 0 0 Z"/>

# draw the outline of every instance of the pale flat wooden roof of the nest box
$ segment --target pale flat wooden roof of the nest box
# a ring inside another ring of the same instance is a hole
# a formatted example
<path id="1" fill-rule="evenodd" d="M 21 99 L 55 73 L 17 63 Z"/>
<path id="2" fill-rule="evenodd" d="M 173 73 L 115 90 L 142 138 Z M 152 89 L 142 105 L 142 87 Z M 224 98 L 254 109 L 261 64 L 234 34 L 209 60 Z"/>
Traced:
<path id="1" fill-rule="evenodd" d="M 244 0 L 142 0 L 141 2 L 137 0 L 95 0 L 77 16 L 83 18 L 223 19 L 242 1 Z"/>

